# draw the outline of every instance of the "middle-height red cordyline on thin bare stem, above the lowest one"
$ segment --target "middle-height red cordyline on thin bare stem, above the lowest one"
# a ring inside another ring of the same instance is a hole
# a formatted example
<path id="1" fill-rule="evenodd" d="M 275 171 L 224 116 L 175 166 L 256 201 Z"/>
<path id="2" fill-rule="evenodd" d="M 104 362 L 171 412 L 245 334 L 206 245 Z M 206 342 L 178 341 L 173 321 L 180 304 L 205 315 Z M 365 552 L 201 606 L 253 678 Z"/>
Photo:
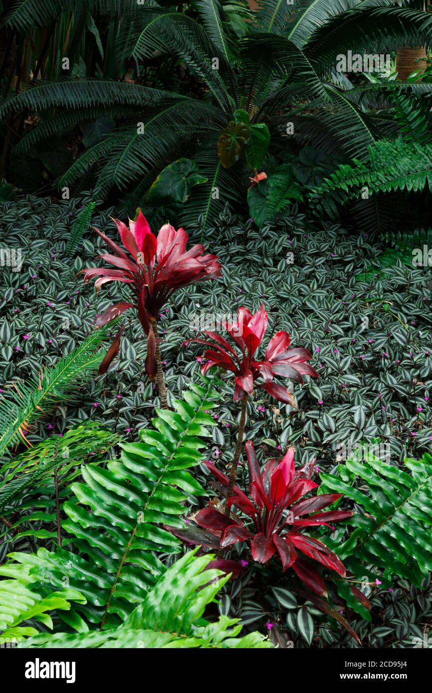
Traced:
<path id="1" fill-rule="evenodd" d="M 234 401 L 241 400 L 241 416 L 237 437 L 234 459 L 230 468 L 230 484 L 227 495 L 232 495 L 232 489 L 236 482 L 237 464 L 241 455 L 243 433 L 246 421 L 246 405 L 248 396 L 254 391 L 254 387 L 261 387 L 277 399 L 279 402 L 295 406 L 293 395 L 286 387 L 275 383 L 275 376 L 290 378 L 297 383 L 303 382 L 304 375 L 318 377 L 316 370 L 306 363 L 312 358 L 307 349 L 288 349 L 291 337 L 287 332 L 277 332 L 271 338 L 266 349 L 264 360 L 255 359 L 255 354 L 266 334 L 268 315 L 261 304 L 257 313 L 249 312 L 248 308 L 239 308 L 237 321 L 230 324 L 223 322 L 223 327 L 241 349 L 239 354 L 225 337 L 215 332 L 204 331 L 204 334 L 213 340 L 196 339 L 192 342 L 205 344 L 205 358 L 207 362 L 202 366 L 202 374 L 206 374 L 209 368 L 218 366 L 234 374 Z M 261 382 L 259 382 L 261 381 Z M 227 514 L 229 509 L 226 509 Z"/>

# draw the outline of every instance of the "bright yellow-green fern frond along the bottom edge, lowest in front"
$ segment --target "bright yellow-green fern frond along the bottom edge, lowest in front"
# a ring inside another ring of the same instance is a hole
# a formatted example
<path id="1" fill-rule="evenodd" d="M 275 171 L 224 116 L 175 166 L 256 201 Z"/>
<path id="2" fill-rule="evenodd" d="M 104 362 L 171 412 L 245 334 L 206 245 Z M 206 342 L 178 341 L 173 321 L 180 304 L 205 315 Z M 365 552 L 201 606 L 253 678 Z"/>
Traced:
<path id="1" fill-rule="evenodd" d="M 219 616 L 217 621 L 209 622 L 202 618 L 228 577 L 211 568 L 212 556 L 198 558 L 195 554 L 196 550 L 189 551 L 166 570 L 118 628 L 77 634 L 41 633 L 28 638 L 23 647 L 272 647 L 257 631 L 238 637 L 242 630 L 239 619 Z"/>

